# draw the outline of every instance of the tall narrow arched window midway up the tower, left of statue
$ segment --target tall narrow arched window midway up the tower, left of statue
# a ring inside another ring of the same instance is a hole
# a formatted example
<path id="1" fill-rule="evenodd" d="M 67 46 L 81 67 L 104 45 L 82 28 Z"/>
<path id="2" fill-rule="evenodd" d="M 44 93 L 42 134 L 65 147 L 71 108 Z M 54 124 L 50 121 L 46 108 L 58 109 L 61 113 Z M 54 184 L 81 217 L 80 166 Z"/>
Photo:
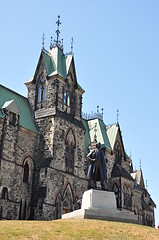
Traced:
<path id="1" fill-rule="evenodd" d="M 76 147 L 76 140 L 73 129 L 70 128 L 67 132 L 66 139 L 66 153 L 65 153 L 65 166 L 66 171 L 73 173 L 74 172 L 74 150 Z"/>

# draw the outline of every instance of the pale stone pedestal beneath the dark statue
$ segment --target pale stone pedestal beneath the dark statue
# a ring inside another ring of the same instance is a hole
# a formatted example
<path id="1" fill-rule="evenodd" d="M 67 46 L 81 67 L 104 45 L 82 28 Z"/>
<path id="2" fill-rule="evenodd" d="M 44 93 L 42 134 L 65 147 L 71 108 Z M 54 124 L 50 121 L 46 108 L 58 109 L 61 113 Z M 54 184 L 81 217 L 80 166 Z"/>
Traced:
<path id="1" fill-rule="evenodd" d="M 67 218 L 138 223 L 138 217 L 133 212 L 117 210 L 114 192 L 93 189 L 84 192 L 81 209 L 62 215 L 62 219 Z"/>

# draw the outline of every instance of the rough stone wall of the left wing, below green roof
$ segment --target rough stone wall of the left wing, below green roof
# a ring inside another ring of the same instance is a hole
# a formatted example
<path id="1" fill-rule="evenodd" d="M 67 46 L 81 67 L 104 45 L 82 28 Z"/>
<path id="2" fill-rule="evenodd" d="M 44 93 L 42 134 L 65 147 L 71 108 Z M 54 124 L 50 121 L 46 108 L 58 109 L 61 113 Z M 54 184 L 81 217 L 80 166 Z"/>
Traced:
<path id="1" fill-rule="evenodd" d="M 20 127 L 18 124 L 12 126 L 9 123 L 8 115 L 6 115 L 2 137 L 1 218 L 18 219 L 21 200 L 25 198 L 27 202 L 30 202 L 31 199 L 32 179 L 29 184 L 23 183 L 23 162 L 27 157 L 30 157 L 32 161 L 34 159 L 36 134 Z"/>

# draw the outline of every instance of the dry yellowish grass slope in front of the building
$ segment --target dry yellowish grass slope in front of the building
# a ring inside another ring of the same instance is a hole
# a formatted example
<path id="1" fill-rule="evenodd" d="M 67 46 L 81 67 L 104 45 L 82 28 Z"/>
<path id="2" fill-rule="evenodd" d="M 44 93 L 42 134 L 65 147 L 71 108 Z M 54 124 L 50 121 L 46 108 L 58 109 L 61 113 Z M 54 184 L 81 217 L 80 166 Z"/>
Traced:
<path id="1" fill-rule="evenodd" d="M 0 240 L 159 240 L 159 230 L 128 223 L 66 219 L 0 221 Z"/>

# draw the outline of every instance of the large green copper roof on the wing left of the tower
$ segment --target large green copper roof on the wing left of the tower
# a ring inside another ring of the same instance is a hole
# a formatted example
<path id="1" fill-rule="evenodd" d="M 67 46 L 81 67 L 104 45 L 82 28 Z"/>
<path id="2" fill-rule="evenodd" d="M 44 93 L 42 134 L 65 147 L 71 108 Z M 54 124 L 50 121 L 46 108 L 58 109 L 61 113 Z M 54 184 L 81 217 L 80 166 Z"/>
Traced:
<path id="1" fill-rule="evenodd" d="M 20 113 L 20 126 L 29 129 L 33 132 L 38 132 L 38 128 L 34 121 L 34 115 L 30 108 L 28 99 L 20 94 L 0 85 L 0 109 L 6 106 L 6 102 L 14 100 Z M 0 117 L 4 115 L 0 110 Z"/>

